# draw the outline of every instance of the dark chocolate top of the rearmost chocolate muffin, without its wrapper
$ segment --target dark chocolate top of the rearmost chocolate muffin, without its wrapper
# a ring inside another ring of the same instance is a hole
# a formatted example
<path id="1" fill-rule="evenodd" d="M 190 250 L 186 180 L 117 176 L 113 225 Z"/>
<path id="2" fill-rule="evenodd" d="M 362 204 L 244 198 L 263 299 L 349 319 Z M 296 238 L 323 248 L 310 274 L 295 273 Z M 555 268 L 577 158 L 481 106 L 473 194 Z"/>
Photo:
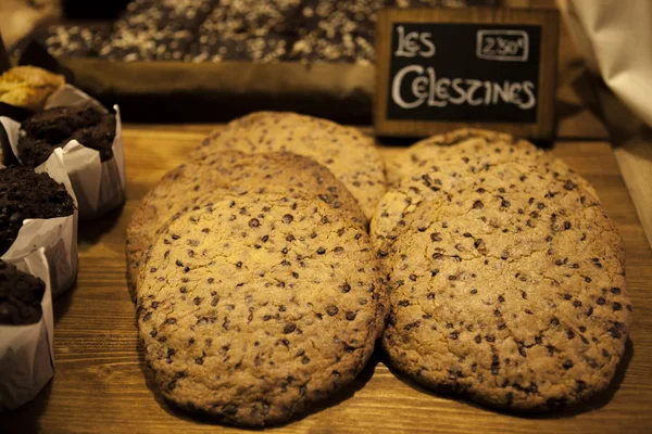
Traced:
<path id="1" fill-rule="evenodd" d="M 18 157 L 23 165 L 36 167 L 48 159 L 55 148 L 77 140 L 100 152 L 105 162 L 113 157 L 115 114 L 104 113 L 90 103 L 45 110 L 21 125 Z"/>

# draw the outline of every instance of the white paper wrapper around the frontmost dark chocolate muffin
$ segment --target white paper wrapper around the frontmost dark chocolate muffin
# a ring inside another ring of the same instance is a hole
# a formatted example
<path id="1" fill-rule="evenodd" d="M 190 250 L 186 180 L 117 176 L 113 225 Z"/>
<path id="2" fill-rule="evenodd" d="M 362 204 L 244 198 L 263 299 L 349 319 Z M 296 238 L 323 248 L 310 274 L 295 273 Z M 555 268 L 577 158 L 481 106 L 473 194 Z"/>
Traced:
<path id="1" fill-rule="evenodd" d="M 39 248 L 18 263 L 8 263 L 42 280 L 46 292 L 38 322 L 0 324 L 0 413 L 34 399 L 54 374 L 54 322 L 48 259 Z"/>

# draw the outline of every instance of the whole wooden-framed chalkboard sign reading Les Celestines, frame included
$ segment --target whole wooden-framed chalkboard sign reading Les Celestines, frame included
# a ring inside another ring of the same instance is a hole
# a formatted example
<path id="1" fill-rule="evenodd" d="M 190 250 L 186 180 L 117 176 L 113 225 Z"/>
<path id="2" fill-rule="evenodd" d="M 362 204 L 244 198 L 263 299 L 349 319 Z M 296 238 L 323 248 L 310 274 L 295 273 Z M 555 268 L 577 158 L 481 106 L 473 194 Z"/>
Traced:
<path id="1" fill-rule="evenodd" d="M 559 31 L 556 10 L 379 11 L 376 133 L 426 137 L 475 127 L 551 140 Z"/>

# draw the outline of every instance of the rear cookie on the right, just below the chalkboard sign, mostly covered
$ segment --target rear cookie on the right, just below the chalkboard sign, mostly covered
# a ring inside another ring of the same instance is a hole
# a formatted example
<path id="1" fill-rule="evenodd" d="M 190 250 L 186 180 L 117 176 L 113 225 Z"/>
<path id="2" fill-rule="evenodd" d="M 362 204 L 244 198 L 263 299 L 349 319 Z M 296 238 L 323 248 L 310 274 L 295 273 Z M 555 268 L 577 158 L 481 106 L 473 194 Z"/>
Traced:
<path id="1" fill-rule="evenodd" d="M 525 144 L 518 151 L 500 142 L 489 145 L 482 139 L 441 150 L 437 146 L 441 145 L 432 145 L 432 152 L 441 153 L 440 159 L 428 159 L 423 167 L 414 166 L 412 176 L 390 188 L 378 204 L 371 230 L 379 248 L 385 248 L 385 244 L 396 238 L 405 218 L 423 202 L 459 206 L 476 192 L 499 196 L 518 193 L 526 199 L 539 193 L 570 197 L 566 204 L 569 209 L 581 205 L 578 202 L 581 195 L 597 202 L 597 193 L 584 178 L 543 151 L 524 151 Z M 456 146 L 462 149 L 455 151 Z M 574 194 L 569 194 L 572 192 Z M 481 206 L 481 202 L 479 200 L 475 206 Z M 614 245 L 619 244 L 617 240 Z"/>

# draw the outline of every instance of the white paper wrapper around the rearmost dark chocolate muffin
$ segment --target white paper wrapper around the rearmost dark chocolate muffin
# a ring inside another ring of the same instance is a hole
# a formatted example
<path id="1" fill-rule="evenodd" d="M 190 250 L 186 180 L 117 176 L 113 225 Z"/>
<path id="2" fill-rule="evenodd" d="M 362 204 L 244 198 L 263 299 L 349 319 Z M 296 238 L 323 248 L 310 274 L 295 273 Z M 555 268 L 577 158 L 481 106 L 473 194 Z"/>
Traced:
<path id="1" fill-rule="evenodd" d="M 106 108 L 93 98 L 71 85 L 54 93 L 46 105 L 47 108 L 74 106 L 91 103 L 106 113 Z M 101 161 L 100 152 L 71 140 L 63 150 L 63 161 L 71 179 L 79 206 L 79 218 L 91 219 L 121 206 L 125 200 L 125 157 L 122 143 L 122 120 L 120 107 L 115 110 L 115 136 L 111 146 L 113 156 Z M 0 117 L 4 126 L 11 149 L 20 161 L 18 137 L 21 125 L 9 117 Z"/>

